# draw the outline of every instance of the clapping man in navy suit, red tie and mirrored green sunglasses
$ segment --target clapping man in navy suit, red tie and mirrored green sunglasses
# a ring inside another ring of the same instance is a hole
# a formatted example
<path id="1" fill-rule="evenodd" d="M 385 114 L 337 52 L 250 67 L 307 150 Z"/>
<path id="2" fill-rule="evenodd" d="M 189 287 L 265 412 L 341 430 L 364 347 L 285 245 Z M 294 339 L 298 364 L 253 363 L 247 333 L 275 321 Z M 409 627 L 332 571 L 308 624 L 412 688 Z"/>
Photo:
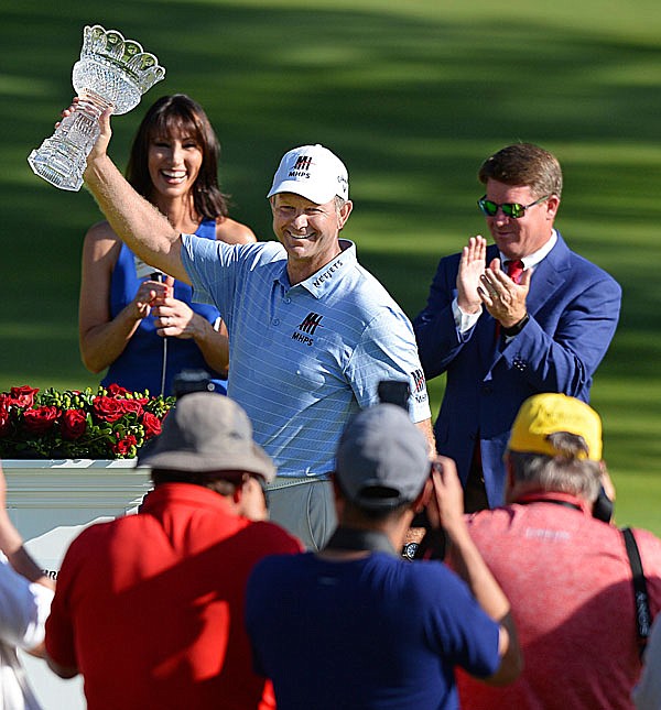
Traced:
<path id="1" fill-rule="evenodd" d="M 472 237 L 442 259 L 413 323 L 427 380 L 447 372 L 436 447 L 456 461 L 468 512 L 503 502 L 502 456 L 524 400 L 562 392 L 589 401 L 621 303 L 618 283 L 553 227 L 562 194 L 554 155 L 509 145 L 483 163 L 479 181 L 496 243 Z"/>

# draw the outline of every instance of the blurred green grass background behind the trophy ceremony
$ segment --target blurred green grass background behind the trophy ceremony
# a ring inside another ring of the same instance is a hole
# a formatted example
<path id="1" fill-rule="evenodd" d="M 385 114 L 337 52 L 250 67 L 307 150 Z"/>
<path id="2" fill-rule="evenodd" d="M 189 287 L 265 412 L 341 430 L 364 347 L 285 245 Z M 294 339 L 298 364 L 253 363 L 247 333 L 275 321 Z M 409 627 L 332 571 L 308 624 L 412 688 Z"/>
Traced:
<path id="1" fill-rule="evenodd" d="M 624 287 L 593 404 L 617 522 L 661 534 L 661 6 L 658 0 L 3 0 L 0 3 L 0 391 L 98 378 L 77 348 L 90 195 L 57 190 L 26 155 L 73 95 L 85 24 L 120 30 L 167 69 L 113 120 L 111 153 L 163 94 L 206 108 L 234 216 L 272 238 L 264 194 L 308 142 L 346 162 L 361 262 L 413 317 L 436 262 L 484 230 L 476 171 L 512 141 L 555 152 L 570 244 Z M 443 379 L 430 383 L 434 414 Z"/>

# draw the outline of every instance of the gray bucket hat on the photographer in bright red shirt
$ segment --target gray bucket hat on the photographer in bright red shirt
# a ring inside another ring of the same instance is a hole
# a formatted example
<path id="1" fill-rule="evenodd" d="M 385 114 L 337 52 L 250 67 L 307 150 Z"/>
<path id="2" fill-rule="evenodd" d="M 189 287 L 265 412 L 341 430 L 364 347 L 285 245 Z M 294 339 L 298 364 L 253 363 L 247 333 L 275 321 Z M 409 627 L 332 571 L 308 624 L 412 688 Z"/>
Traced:
<path id="1" fill-rule="evenodd" d="M 252 425 L 229 397 L 193 392 L 170 411 L 163 430 L 138 452 L 138 466 L 170 471 L 246 471 L 267 482 L 275 466 L 252 439 Z"/>

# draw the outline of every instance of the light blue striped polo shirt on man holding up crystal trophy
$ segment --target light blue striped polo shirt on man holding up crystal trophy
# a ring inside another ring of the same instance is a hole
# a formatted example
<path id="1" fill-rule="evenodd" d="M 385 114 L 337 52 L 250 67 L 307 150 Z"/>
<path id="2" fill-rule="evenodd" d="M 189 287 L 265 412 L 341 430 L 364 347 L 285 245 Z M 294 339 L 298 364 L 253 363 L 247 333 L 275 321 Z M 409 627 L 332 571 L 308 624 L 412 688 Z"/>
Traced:
<path id="1" fill-rule="evenodd" d="M 351 242 L 291 286 L 279 242 L 182 240 L 194 299 L 214 304 L 227 325 L 227 393 L 279 476 L 326 478 L 347 420 L 378 402 L 380 380 L 408 381 L 411 419 L 431 416 L 411 323 Z"/>

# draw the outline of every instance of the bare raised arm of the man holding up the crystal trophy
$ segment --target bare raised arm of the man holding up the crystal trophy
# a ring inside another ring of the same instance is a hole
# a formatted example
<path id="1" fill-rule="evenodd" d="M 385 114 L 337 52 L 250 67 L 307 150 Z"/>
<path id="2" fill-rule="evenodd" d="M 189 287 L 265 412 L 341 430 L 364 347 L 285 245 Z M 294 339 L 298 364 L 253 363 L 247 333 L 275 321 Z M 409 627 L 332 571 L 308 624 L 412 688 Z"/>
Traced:
<path id="1" fill-rule="evenodd" d="M 64 114 L 66 116 L 66 111 Z M 87 159 L 85 183 L 120 239 L 150 266 L 191 283 L 181 259 L 181 238 L 164 215 L 141 197 L 108 156 L 110 112 L 99 118 L 100 135 Z"/>

